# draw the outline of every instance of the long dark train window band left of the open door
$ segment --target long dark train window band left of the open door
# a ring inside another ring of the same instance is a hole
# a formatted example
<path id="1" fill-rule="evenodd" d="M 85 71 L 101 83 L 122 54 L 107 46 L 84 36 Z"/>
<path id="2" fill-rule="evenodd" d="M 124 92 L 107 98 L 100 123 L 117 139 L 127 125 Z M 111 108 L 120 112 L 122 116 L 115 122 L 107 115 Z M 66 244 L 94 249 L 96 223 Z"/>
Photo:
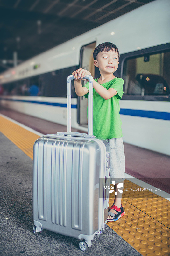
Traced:
<path id="1" fill-rule="evenodd" d="M 72 74 L 78 66 L 55 70 L 39 76 L 32 76 L 12 83 L 3 84 L 1 95 L 22 95 L 22 96 L 46 96 L 46 97 L 66 97 L 67 76 Z M 72 85 L 72 97 L 77 95 Z"/>

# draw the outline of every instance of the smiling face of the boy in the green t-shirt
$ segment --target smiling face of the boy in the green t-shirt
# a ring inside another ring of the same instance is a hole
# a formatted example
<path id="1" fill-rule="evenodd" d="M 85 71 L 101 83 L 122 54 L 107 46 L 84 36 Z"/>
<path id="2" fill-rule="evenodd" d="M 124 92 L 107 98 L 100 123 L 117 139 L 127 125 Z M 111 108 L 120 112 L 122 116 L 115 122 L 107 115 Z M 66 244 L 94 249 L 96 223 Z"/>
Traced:
<path id="1" fill-rule="evenodd" d="M 119 58 L 117 52 L 99 52 L 97 54 L 94 64 L 99 68 L 100 72 L 105 74 L 111 74 L 115 72 L 119 65 Z"/>

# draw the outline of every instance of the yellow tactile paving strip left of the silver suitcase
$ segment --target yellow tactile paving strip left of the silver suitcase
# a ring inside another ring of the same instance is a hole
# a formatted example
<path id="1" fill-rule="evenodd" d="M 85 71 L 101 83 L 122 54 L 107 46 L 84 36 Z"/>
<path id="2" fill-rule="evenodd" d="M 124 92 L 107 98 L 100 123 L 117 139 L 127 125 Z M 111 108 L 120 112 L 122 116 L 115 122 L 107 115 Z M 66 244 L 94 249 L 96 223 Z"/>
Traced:
<path id="1" fill-rule="evenodd" d="M 33 158 L 33 145 L 39 136 L 0 116 L 0 132 L 10 139 L 27 156 Z"/>

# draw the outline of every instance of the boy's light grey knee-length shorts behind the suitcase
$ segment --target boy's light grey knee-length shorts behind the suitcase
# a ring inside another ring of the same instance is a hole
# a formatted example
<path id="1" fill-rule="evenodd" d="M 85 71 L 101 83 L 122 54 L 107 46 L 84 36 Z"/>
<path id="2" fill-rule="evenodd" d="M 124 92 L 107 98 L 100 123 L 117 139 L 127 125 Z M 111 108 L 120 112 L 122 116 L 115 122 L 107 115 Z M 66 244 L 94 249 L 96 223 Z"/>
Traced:
<path id="1" fill-rule="evenodd" d="M 116 183 L 124 181 L 125 156 L 124 144 L 122 138 L 108 139 L 110 149 L 110 183 L 112 180 Z"/>

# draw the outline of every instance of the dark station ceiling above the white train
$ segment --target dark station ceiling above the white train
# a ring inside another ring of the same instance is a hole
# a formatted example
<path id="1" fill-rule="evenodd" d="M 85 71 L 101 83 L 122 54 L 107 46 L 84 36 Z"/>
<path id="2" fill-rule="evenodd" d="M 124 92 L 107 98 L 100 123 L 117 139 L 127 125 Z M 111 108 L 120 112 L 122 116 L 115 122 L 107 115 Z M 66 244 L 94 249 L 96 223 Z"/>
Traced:
<path id="1" fill-rule="evenodd" d="M 0 72 L 153 0 L 0 0 Z"/>

